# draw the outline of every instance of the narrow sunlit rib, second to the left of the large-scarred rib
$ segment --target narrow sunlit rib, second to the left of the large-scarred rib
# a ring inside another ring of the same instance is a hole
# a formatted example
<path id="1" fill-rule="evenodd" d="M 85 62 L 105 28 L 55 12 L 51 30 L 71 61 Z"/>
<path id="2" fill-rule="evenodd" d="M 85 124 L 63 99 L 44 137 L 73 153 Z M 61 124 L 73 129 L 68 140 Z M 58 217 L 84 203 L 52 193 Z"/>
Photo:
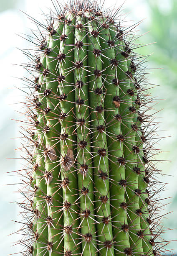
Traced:
<path id="1" fill-rule="evenodd" d="M 36 126 L 38 132 L 38 147 L 36 152 L 36 162 L 38 164 L 35 170 L 36 176 L 36 210 L 37 212 L 37 223 L 36 223 L 36 231 L 37 231 L 37 241 L 36 241 L 36 255 L 46 250 L 46 245 L 48 242 L 48 229 L 46 225 L 46 217 L 47 217 L 47 208 L 46 208 L 46 182 L 44 178 L 45 174 L 45 163 L 43 151 L 45 148 L 45 137 L 44 137 L 44 128 L 45 128 L 45 118 L 43 115 L 43 109 L 46 106 L 46 99 L 43 97 L 43 92 L 46 87 L 45 76 L 43 75 L 43 71 L 46 69 L 46 57 L 45 53 L 42 53 L 40 57 L 40 76 L 39 76 L 39 89 L 38 89 L 38 102 L 40 104 L 37 105 L 36 111 L 38 113 L 39 122 Z M 47 255 L 47 254 L 46 254 Z"/>

